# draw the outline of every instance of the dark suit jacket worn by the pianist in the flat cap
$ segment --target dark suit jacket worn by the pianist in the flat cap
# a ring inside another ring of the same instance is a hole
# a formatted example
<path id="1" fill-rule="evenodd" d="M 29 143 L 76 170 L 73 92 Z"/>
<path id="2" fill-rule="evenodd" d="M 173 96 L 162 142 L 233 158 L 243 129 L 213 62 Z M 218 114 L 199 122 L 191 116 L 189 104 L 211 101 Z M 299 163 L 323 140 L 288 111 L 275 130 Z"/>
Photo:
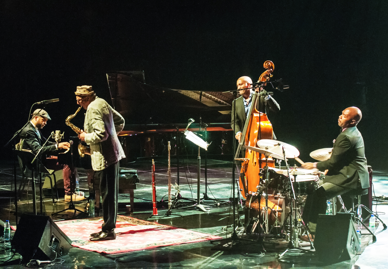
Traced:
<path id="1" fill-rule="evenodd" d="M 40 131 L 38 130 L 38 132 Z M 27 150 L 32 150 L 34 154 L 38 153 L 39 149 L 46 141 L 46 138 L 42 136 L 42 133 L 40 133 L 40 137 L 42 139 L 39 138 L 38 134 L 36 133 L 35 127 L 32 125 L 31 122 L 28 122 L 27 126 L 23 128 L 23 130 L 19 134 L 19 137 L 24 140 L 23 148 Z M 57 147 L 55 146 L 55 143 L 47 142 L 46 146 L 43 147 L 40 151 L 40 154 L 47 155 L 56 152 L 56 149 Z"/>

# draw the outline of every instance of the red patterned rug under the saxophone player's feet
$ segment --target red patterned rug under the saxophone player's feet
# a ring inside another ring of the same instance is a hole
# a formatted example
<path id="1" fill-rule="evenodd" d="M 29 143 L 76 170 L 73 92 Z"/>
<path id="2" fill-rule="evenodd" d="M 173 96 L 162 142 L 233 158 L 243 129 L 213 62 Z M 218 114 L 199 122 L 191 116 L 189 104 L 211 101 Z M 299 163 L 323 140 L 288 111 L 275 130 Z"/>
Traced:
<path id="1" fill-rule="evenodd" d="M 90 234 L 101 230 L 102 217 L 55 222 L 73 241 L 73 247 L 107 254 L 156 248 L 183 243 L 220 239 L 220 236 L 198 233 L 133 217 L 117 216 L 116 240 L 89 241 Z"/>

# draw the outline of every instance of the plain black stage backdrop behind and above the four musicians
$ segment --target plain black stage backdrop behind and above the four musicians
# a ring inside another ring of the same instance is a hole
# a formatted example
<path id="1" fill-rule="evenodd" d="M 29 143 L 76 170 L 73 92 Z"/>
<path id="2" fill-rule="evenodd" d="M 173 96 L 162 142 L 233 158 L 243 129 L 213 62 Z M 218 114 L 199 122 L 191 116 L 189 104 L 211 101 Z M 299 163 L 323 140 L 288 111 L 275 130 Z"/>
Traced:
<path id="1" fill-rule="evenodd" d="M 51 98 L 60 102 L 46 106 L 53 120 L 43 134 L 75 134 L 64 124 L 77 108 L 75 88 L 92 85 L 110 102 L 106 71 L 144 70 L 147 83 L 175 89 L 234 90 L 237 78 L 257 80 L 272 60 L 274 79 L 290 85 L 275 92 L 281 112 L 269 114 L 280 141 L 311 161 L 309 152 L 332 146 L 341 111 L 357 106 L 368 163 L 385 169 L 387 7 L 386 0 L 3 0 L 3 144 L 32 103 Z M 10 151 L 0 157 L 9 160 Z"/>

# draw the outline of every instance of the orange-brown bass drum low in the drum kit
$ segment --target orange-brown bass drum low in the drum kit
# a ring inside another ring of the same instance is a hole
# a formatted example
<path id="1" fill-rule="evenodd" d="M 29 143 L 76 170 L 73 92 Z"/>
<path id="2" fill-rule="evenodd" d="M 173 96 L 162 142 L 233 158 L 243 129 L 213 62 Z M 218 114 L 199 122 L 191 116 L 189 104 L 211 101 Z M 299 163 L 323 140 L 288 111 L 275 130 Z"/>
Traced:
<path id="1" fill-rule="evenodd" d="M 272 190 L 268 190 L 268 193 L 272 192 Z M 247 196 L 245 201 L 245 225 L 248 225 L 246 233 L 255 232 L 255 222 L 257 221 L 258 216 L 260 224 L 264 222 L 264 208 L 265 197 L 262 195 L 252 194 Z M 289 209 L 286 207 L 283 197 L 278 195 L 268 195 L 268 231 L 275 231 L 275 233 L 279 233 L 288 212 Z"/>

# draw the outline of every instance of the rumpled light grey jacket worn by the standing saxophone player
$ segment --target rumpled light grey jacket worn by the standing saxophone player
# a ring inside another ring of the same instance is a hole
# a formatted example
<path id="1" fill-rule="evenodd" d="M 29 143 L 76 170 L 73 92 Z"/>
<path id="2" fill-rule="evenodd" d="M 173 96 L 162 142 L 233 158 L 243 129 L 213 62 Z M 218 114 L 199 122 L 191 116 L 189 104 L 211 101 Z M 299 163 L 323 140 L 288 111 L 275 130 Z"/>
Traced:
<path id="1" fill-rule="evenodd" d="M 95 97 L 85 114 L 85 142 L 90 145 L 92 167 L 100 171 L 125 158 L 117 134 L 124 128 L 124 118 L 104 99 Z"/>

